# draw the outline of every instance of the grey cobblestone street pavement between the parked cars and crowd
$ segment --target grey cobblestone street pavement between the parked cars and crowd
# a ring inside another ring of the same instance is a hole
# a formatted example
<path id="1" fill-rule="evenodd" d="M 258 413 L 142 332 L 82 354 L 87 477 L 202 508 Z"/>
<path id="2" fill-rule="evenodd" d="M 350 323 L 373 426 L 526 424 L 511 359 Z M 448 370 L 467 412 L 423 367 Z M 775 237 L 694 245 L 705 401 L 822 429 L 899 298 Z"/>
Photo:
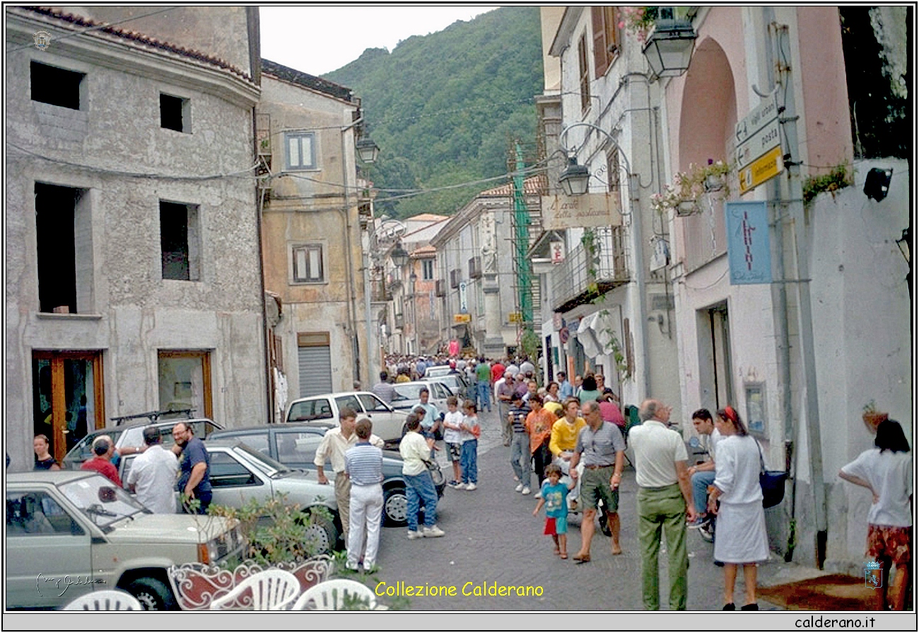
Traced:
<path id="1" fill-rule="evenodd" d="M 481 414 L 479 484 L 472 492 L 448 488 L 437 505 L 437 525 L 446 536 L 408 540 L 405 528 L 383 528 L 380 537 L 380 571 L 369 584 L 396 582 L 406 585 L 455 586 L 456 596 L 411 597 L 407 608 L 415 610 L 641 610 L 641 559 L 638 555 L 638 520 L 635 511 L 635 471 L 627 466 L 619 499 L 623 554 L 612 556 L 610 539 L 597 529 L 591 562 L 578 565 L 552 553 L 550 537 L 542 535 L 544 514 L 531 513 L 533 495 L 514 492 L 510 448 L 502 445 L 497 410 Z M 444 473 L 452 472 L 443 453 L 438 453 Z M 536 485 L 536 478 L 533 478 Z M 569 556 L 578 550 L 580 515 L 569 517 Z M 687 535 L 689 548 L 689 596 L 691 610 L 720 609 L 723 576 L 712 563 L 712 546 L 698 533 Z M 666 556 L 660 556 L 662 608 L 667 608 Z M 784 566 L 767 562 L 761 567 Z M 501 585 L 541 586 L 541 596 L 463 596 L 462 589 Z M 387 598 L 380 600 L 384 603 Z M 743 582 L 735 589 L 735 602 L 743 604 Z M 760 600 L 760 608 L 775 609 Z"/>

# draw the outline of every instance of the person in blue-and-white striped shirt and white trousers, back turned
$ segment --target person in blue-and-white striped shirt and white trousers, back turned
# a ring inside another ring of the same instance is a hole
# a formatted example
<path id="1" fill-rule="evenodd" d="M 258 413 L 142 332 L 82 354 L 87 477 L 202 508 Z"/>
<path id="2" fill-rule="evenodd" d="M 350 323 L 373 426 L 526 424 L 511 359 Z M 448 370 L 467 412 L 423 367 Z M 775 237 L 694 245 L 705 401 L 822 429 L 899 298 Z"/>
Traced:
<path id="1" fill-rule="evenodd" d="M 361 418 L 355 426 L 357 444 L 345 451 L 345 472 L 351 480 L 351 529 L 347 536 L 349 570 L 357 570 L 360 549 L 367 531 L 364 570 L 373 569 L 380 547 L 380 515 L 383 511 L 383 452 L 370 444 L 372 424 Z"/>

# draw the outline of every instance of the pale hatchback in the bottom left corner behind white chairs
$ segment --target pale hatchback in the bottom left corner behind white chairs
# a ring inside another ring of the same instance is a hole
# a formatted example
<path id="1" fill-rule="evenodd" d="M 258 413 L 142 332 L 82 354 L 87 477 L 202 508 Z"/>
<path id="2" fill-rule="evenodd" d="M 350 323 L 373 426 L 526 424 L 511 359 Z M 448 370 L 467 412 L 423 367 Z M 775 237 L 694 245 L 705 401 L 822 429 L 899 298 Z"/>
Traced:
<path id="1" fill-rule="evenodd" d="M 174 609 L 166 570 L 239 558 L 229 519 L 151 514 L 90 470 L 6 475 L 6 608 L 56 608 L 121 589 L 148 610 Z"/>

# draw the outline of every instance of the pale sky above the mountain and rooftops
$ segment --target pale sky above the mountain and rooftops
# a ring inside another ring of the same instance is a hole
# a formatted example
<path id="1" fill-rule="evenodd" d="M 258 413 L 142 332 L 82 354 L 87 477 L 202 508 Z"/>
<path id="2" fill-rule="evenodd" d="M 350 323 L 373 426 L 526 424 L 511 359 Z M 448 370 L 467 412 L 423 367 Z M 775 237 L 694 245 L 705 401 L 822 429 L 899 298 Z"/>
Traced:
<path id="1" fill-rule="evenodd" d="M 497 6 L 262 6 L 262 57 L 310 74 L 354 62 L 365 49 L 396 45 Z"/>

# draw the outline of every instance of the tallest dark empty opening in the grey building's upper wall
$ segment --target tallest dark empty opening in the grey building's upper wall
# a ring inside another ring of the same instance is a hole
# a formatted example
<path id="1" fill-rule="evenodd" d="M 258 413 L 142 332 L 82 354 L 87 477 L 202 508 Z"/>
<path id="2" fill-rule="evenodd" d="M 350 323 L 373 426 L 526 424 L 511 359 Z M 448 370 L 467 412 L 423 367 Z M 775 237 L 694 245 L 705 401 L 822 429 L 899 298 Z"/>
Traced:
<path id="1" fill-rule="evenodd" d="M 88 311 L 92 293 L 92 233 L 85 190 L 35 184 L 39 310 Z"/>

